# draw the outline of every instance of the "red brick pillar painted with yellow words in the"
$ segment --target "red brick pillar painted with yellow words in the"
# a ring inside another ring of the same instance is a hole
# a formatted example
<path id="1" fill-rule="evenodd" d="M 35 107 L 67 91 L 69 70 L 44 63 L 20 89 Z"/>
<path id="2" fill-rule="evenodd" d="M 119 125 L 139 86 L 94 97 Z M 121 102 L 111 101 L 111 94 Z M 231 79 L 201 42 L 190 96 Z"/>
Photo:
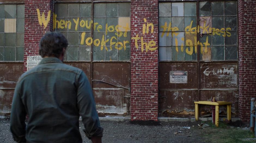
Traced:
<path id="1" fill-rule="evenodd" d="M 157 0 L 131 0 L 131 37 L 131 120 L 157 121 Z"/>

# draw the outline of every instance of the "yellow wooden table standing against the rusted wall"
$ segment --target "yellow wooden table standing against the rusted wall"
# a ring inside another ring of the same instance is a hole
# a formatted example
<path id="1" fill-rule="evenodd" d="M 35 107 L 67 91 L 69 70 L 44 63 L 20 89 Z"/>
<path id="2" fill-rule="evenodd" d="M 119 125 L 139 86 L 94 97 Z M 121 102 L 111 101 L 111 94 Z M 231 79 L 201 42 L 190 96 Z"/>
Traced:
<path id="1" fill-rule="evenodd" d="M 211 101 L 196 101 L 195 103 L 195 118 L 196 121 L 199 118 L 199 104 L 203 105 L 215 105 L 215 125 L 219 126 L 219 106 L 227 105 L 227 119 L 228 121 L 231 120 L 231 102 L 226 101 L 218 101 L 218 102 L 211 102 Z"/>

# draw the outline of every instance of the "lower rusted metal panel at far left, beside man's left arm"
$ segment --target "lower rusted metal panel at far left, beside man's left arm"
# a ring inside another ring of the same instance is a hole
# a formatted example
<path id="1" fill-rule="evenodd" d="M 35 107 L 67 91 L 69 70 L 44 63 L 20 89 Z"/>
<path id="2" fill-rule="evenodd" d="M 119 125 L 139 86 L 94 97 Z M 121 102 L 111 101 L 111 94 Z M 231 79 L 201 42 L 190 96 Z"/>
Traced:
<path id="1" fill-rule="evenodd" d="M 13 94 L 13 89 L 0 89 L 0 116 L 9 116 L 11 114 Z"/>

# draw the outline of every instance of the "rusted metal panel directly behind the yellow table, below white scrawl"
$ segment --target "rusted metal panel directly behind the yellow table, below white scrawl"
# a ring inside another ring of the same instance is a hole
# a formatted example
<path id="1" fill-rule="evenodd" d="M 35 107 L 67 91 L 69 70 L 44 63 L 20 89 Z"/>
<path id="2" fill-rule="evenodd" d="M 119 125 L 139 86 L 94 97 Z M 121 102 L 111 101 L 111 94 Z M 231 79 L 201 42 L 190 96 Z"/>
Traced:
<path id="1" fill-rule="evenodd" d="M 231 115 L 237 116 L 238 112 L 238 90 L 201 90 L 200 91 L 200 101 L 211 101 L 215 98 L 217 101 L 227 101 L 232 102 L 231 105 Z M 202 116 L 211 115 L 211 106 L 200 105 L 200 112 Z M 220 106 L 220 115 L 227 115 L 227 107 Z"/>

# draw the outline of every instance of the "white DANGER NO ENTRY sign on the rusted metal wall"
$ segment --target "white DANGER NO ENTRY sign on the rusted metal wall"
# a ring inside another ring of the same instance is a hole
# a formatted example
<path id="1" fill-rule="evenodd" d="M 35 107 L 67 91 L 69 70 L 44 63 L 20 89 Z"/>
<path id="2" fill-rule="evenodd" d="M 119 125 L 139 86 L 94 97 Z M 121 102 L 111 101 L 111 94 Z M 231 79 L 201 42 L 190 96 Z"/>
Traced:
<path id="1" fill-rule="evenodd" d="M 170 71 L 170 83 L 188 83 L 188 72 Z"/>

